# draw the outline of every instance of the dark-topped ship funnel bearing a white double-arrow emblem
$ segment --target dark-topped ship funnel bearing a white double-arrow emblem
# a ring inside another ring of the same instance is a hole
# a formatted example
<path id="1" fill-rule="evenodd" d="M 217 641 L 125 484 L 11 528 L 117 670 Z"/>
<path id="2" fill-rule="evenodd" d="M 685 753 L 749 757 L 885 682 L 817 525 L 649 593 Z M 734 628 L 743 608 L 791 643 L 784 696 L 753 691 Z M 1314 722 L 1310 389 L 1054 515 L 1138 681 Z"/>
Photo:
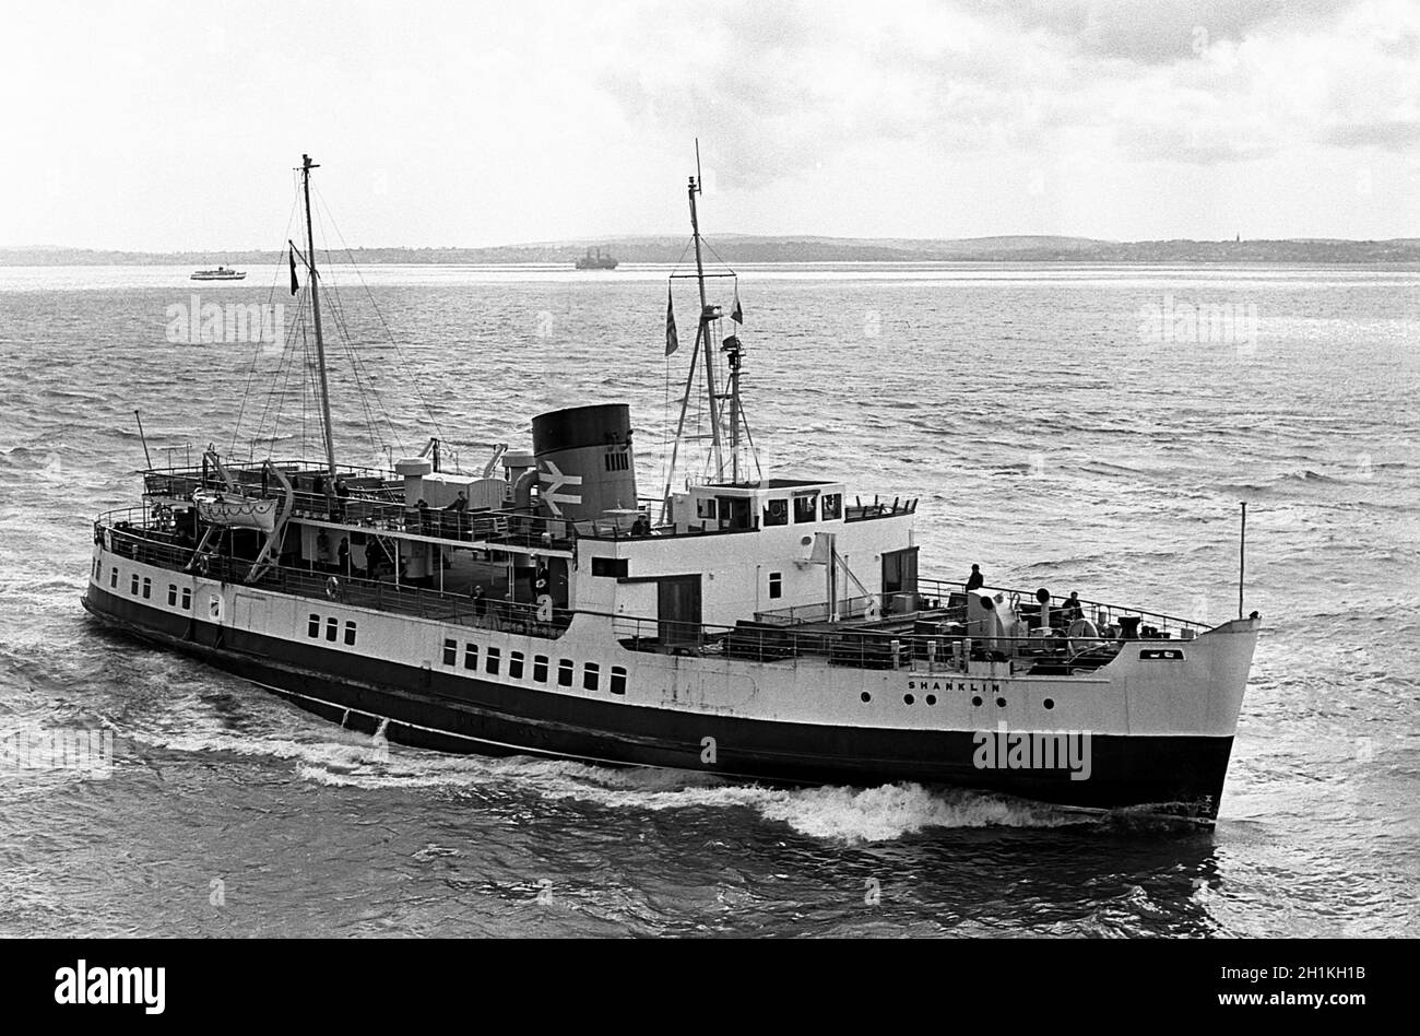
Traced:
<path id="1" fill-rule="evenodd" d="M 552 517 L 585 522 L 636 506 L 630 406 L 601 404 L 532 418 L 538 493 Z"/>

